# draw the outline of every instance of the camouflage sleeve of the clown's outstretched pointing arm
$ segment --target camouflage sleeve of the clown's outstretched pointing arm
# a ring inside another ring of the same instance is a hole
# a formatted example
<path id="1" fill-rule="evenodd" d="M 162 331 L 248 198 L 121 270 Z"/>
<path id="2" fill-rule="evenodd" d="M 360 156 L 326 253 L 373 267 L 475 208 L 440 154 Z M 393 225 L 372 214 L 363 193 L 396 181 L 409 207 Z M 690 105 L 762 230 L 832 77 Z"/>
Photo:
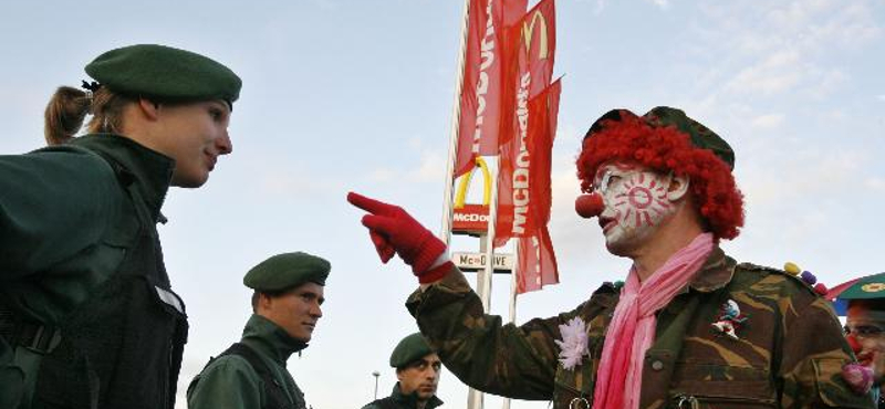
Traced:
<path id="1" fill-rule="evenodd" d="M 464 274 L 454 269 L 406 303 L 446 368 L 472 388 L 517 399 L 553 396 L 559 324 L 575 313 L 502 325 L 487 315 Z"/>

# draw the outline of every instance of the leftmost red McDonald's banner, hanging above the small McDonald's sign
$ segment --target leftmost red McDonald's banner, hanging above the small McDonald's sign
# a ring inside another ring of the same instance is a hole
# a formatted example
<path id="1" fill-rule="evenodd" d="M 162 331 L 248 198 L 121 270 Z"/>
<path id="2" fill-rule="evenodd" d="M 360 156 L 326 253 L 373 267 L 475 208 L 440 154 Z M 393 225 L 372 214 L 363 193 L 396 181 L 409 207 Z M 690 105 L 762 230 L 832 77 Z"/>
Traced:
<path id="1" fill-rule="evenodd" d="M 470 0 L 455 178 L 473 168 L 475 157 L 498 153 L 503 33 L 520 20 L 527 3 L 528 0 Z"/>

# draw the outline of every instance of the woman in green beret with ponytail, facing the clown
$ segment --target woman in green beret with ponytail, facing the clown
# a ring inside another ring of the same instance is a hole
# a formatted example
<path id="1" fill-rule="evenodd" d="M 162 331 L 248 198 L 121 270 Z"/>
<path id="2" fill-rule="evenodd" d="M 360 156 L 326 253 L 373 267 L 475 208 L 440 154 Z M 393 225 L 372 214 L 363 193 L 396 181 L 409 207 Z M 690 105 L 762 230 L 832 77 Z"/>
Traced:
<path id="1" fill-rule="evenodd" d="M 156 223 L 231 153 L 241 82 L 153 44 L 85 70 L 46 107 L 49 146 L 0 156 L 0 408 L 173 408 L 188 326 Z"/>

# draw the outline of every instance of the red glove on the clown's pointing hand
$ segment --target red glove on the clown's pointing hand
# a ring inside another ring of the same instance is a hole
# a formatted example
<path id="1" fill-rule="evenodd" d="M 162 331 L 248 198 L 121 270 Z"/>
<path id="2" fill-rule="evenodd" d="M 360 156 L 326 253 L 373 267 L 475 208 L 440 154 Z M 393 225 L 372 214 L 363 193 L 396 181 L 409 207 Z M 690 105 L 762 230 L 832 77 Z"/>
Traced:
<path id="1" fill-rule="evenodd" d="M 434 268 L 446 244 L 402 208 L 354 192 L 347 193 L 347 201 L 369 213 L 363 216 L 363 226 L 383 263 L 399 254 L 421 283 L 437 281 L 451 269 L 450 261 Z"/>

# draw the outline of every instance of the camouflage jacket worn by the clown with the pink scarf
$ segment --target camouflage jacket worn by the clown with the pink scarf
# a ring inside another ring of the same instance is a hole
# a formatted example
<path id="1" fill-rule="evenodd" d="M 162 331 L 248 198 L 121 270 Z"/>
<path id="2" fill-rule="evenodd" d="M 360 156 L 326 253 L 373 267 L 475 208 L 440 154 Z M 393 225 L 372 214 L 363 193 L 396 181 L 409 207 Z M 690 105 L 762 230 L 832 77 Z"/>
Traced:
<path id="1" fill-rule="evenodd" d="M 736 264 L 715 249 L 658 313 L 639 408 L 872 408 L 871 397 L 850 392 L 842 380 L 841 368 L 853 356 L 827 302 L 787 273 Z M 465 384 L 566 409 L 575 398 L 592 405 L 618 294 L 603 285 L 571 312 L 502 326 L 500 317 L 483 314 L 479 297 L 454 271 L 416 291 L 406 305 L 446 368 Z M 738 339 L 712 328 L 728 301 L 747 317 Z M 587 325 L 589 356 L 566 370 L 554 340 L 562 339 L 559 325 L 573 317 Z"/>

